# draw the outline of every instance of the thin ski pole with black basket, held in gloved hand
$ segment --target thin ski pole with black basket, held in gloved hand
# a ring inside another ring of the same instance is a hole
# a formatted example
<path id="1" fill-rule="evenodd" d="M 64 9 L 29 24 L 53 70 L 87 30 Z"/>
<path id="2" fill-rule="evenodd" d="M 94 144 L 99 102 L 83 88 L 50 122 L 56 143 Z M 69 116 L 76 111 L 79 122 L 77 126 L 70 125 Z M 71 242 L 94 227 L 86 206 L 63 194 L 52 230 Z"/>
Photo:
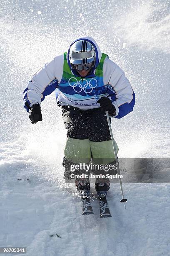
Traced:
<path id="1" fill-rule="evenodd" d="M 118 174 L 119 174 L 120 189 L 121 189 L 121 193 L 122 193 L 122 200 L 120 200 L 120 202 L 123 202 L 123 203 L 124 203 L 124 207 L 125 207 L 125 209 L 126 209 L 125 202 L 127 201 L 127 199 L 125 199 L 125 198 L 124 198 L 124 195 L 123 195 L 122 180 L 120 179 L 120 169 L 119 169 L 119 163 L 118 163 L 118 160 L 117 160 L 116 146 L 115 146 L 115 141 L 114 141 L 114 138 L 113 138 L 112 127 L 111 127 L 111 124 L 110 124 L 108 111 L 106 111 L 105 114 L 106 114 L 107 122 L 108 122 L 108 125 L 109 125 L 110 136 L 111 136 L 111 138 L 112 138 L 112 144 L 113 144 L 113 149 L 114 149 L 114 154 L 115 154 L 117 172 L 118 172 Z"/>

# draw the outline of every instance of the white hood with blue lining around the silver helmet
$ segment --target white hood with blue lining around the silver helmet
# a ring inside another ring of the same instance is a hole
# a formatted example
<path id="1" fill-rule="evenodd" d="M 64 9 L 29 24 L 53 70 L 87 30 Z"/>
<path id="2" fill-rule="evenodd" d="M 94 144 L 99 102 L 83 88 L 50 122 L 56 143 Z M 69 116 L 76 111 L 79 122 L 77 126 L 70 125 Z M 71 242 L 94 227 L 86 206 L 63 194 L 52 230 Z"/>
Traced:
<path id="1" fill-rule="evenodd" d="M 93 67 L 91 70 L 90 70 L 90 73 L 88 73 L 88 75 L 86 77 L 95 77 L 95 69 L 96 67 L 98 66 L 99 62 L 100 62 L 100 59 L 102 57 L 102 53 L 100 51 L 100 48 L 99 46 L 97 45 L 96 41 L 92 38 L 92 37 L 89 37 L 89 36 L 84 36 L 84 37 L 81 37 L 81 38 L 77 38 L 75 41 L 72 42 L 72 44 L 74 44 L 75 42 L 77 41 L 80 41 L 80 40 L 87 40 L 88 42 L 90 42 L 94 47 L 95 47 L 95 53 L 96 53 L 96 58 L 95 58 L 95 67 Z M 72 69 L 71 67 L 71 64 L 70 64 L 70 60 L 69 60 L 69 54 L 70 54 L 70 48 L 72 46 L 72 44 L 70 44 L 70 47 L 67 51 L 67 62 L 68 62 L 68 65 L 72 71 L 72 73 L 74 75 L 76 75 L 77 77 L 81 77 L 80 74 L 78 74 L 75 69 Z"/>

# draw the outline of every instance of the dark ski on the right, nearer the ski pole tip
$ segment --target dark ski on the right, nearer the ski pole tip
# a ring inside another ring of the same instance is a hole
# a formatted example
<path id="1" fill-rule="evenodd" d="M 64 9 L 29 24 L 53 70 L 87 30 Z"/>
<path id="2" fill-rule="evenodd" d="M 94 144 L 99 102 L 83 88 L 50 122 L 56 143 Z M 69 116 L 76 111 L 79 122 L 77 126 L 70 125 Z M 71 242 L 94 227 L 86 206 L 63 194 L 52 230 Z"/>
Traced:
<path id="1" fill-rule="evenodd" d="M 112 215 L 110 214 L 109 206 L 106 199 L 107 192 L 99 191 L 99 209 L 100 209 L 100 218 L 110 218 Z"/>

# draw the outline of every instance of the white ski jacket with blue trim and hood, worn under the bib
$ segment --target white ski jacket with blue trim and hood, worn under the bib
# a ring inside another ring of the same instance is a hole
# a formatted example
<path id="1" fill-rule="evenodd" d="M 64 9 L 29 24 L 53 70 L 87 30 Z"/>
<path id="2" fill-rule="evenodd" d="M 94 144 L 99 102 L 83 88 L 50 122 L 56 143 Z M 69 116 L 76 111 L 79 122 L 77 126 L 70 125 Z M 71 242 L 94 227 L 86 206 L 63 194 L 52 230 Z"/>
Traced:
<path id="1" fill-rule="evenodd" d="M 92 76 L 88 75 L 87 77 L 95 77 L 95 71 L 97 65 L 100 62 L 102 53 L 99 49 L 99 46 L 95 42 L 93 38 L 83 37 L 78 38 L 77 40 L 85 39 L 90 41 L 93 46 L 95 46 L 96 51 L 96 61 L 95 68 Z M 74 41 L 74 42 L 75 42 Z M 72 44 L 71 44 L 72 45 Z M 67 56 L 69 56 L 70 48 L 67 51 Z M 67 58 L 67 63 L 70 66 L 69 58 Z M 58 105 L 72 105 L 82 110 L 99 108 L 100 104 L 97 103 L 97 99 L 95 95 L 91 97 L 89 94 L 87 97 L 82 97 L 78 95 L 78 100 L 75 100 L 75 97 L 69 92 L 67 94 L 60 91 L 60 82 L 63 76 L 63 64 L 64 64 L 64 54 L 60 56 L 55 56 L 52 61 L 45 64 L 40 70 L 38 70 L 30 82 L 28 83 L 26 89 L 24 90 L 24 107 L 28 111 L 29 108 L 33 104 L 41 104 L 42 100 L 45 99 L 45 96 L 50 95 L 55 91 L 56 99 Z M 70 66 L 71 68 L 71 66 Z M 127 115 L 131 111 L 133 111 L 133 107 L 135 105 L 135 94 L 130 85 L 130 82 L 125 77 L 125 73 L 117 66 L 113 61 L 109 58 L 106 58 L 103 63 L 103 83 L 108 88 L 107 95 L 110 100 L 112 100 L 112 104 L 116 108 L 116 115 L 113 118 L 122 118 Z M 74 70 L 71 69 L 72 76 L 75 76 Z M 77 74 L 76 74 L 77 76 Z M 86 77 L 84 77 L 86 78 Z M 90 87 L 91 88 L 91 87 Z M 72 87 L 70 86 L 70 90 Z M 75 88 L 73 88 L 75 89 Z M 83 89 L 79 87 L 79 89 Z M 92 88 L 93 90 L 93 88 Z M 76 96 L 76 95 L 75 95 Z M 100 95 L 105 96 L 105 95 Z"/>

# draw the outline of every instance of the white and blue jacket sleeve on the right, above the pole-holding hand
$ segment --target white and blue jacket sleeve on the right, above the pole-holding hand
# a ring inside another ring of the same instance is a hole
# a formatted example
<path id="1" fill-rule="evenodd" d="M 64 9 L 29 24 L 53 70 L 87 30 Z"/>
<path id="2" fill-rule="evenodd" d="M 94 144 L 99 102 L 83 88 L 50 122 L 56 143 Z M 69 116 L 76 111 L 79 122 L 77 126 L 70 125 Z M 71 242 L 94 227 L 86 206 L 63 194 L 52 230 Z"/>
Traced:
<path id="1" fill-rule="evenodd" d="M 114 118 L 122 118 L 131 111 L 135 105 L 135 93 L 125 73 L 113 61 L 107 59 L 103 66 L 103 78 L 112 104 L 116 108 Z"/>

